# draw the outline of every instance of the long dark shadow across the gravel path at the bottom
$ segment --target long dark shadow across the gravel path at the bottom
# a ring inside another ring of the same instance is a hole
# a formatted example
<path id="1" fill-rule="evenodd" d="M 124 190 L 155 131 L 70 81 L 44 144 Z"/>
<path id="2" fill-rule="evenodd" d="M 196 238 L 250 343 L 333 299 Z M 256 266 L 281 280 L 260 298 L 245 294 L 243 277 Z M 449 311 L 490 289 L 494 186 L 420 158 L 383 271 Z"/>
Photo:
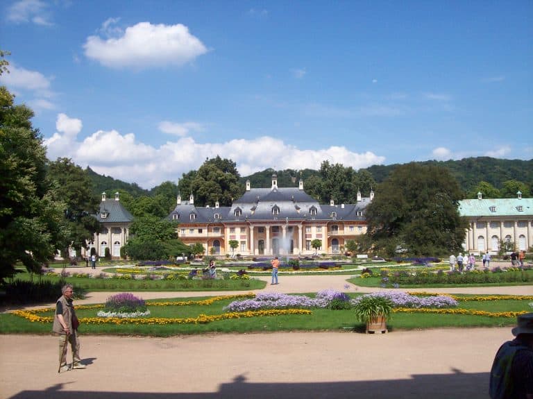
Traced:
<path id="1" fill-rule="evenodd" d="M 295 375 L 303 371 L 294 372 Z M 149 378 L 149 375 L 146 376 Z M 409 380 L 379 380 L 354 382 L 316 383 L 253 383 L 244 375 L 233 382 L 221 384 L 217 392 L 205 393 L 149 393 L 149 392 L 99 392 L 62 391 L 64 384 L 55 384 L 44 391 L 21 391 L 10 399 L 314 399 L 314 398 L 487 398 L 489 373 L 413 375 Z M 162 390 L 179 391 L 178 382 L 171 377 L 162 382 Z"/>

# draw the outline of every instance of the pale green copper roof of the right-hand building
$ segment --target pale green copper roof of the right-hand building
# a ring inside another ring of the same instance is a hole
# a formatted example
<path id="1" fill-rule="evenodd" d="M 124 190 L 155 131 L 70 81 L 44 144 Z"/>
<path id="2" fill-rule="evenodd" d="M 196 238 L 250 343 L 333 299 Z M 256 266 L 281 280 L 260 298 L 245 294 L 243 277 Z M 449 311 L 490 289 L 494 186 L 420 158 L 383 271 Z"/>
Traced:
<path id="1" fill-rule="evenodd" d="M 512 216 L 533 215 L 533 198 L 487 198 L 459 201 L 461 216 Z"/>

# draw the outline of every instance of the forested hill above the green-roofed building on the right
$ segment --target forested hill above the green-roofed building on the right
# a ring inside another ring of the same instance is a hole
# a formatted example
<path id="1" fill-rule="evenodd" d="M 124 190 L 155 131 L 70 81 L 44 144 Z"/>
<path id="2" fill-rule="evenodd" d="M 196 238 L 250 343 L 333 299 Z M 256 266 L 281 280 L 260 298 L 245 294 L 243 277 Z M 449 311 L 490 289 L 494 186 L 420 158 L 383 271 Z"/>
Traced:
<path id="1" fill-rule="evenodd" d="M 419 164 L 434 164 L 450 169 L 464 192 L 469 192 L 480 181 L 489 182 L 497 189 L 506 180 L 518 180 L 527 186 L 533 185 L 533 160 L 501 160 L 498 158 L 464 158 L 458 161 L 425 161 Z M 376 182 L 382 182 L 399 164 L 373 165 L 366 168 Z"/>

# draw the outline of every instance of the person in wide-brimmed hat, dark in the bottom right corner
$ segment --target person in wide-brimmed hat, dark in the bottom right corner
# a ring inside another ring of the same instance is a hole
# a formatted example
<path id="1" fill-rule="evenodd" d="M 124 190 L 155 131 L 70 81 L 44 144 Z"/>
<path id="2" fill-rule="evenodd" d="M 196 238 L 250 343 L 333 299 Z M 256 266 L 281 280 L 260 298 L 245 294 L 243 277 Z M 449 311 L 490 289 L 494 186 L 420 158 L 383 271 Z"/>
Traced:
<path id="1" fill-rule="evenodd" d="M 492 399 L 533 399 L 533 313 L 518 316 L 511 332 L 516 338 L 494 358 L 489 393 Z"/>

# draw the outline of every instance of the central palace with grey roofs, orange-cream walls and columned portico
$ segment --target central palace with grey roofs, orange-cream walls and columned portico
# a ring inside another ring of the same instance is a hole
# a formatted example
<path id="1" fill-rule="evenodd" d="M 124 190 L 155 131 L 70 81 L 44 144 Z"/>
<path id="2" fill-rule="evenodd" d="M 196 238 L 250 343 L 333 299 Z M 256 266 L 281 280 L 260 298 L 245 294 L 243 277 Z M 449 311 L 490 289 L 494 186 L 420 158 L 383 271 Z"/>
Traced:
<path id="1" fill-rule="evenodd" d="M 322 205 L 298 187 L 278 187 L 276 174 L 270 188 L 252 188 L 230 207 L 196 207 L 194 196 L 178 195 L 167 219 L 178 221 L 178 236 L 185 244 L 201 243 L 206 255 L 312 255 L 312 241 L 321 242 L 319 253 L 343 253 L 349 239 L 366 232 L 364 209 L 372 201 L 357 193 L 355 204 Z M 230 241 L 237 241 L 231 248 Z"/>

